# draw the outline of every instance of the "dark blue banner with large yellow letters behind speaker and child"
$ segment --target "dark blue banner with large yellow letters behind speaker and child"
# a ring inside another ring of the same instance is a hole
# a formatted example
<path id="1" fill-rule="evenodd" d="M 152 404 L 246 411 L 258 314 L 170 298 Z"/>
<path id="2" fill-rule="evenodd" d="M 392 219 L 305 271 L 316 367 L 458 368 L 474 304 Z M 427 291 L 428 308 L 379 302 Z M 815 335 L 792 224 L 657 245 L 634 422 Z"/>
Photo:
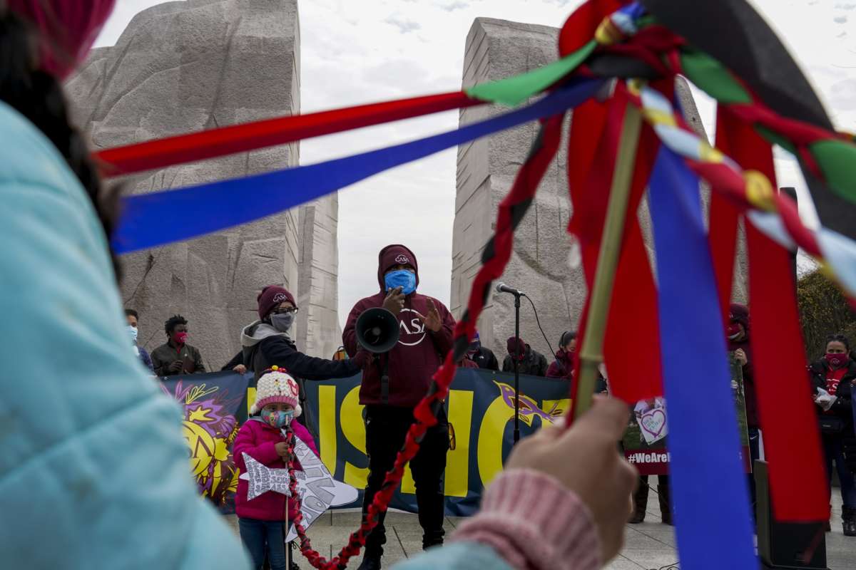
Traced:
<path id="1" fill-rule="evenodd" d="M 315 436 L 321 460 L 337 481 L 357 488 L 357 507 L 368 476 L 366 428 L 359 403 L 360 376 L 303 382 L 306 400 L 300 421 Z M 449 455 L 445 474 L 449 514 L 466 516 L 478 508 L 481 491 L 502 471 L 513 444 L 514 375 L 461 368 L 446 402 Z M 238 473 L 232 443 L 255 400 L 253 374 L 233 372 L 169 376 L 163 391 L 184 409 L 182 432 L 199 492 L 223 513 L 234 510 Z M 520 376 L 520 432 L 523 437 L 568 410 L 568 382 Z M 416 512 L 409 467 L 391 505 Z"/>

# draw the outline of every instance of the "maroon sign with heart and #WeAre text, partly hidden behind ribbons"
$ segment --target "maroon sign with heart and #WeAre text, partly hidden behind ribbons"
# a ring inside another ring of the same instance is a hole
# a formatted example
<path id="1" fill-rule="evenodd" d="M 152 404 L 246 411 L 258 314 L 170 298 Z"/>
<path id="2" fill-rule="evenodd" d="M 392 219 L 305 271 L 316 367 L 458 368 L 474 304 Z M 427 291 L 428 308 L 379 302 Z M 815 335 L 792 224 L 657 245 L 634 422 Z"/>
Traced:
<path id="1" fill-rule="evenodd" d="M 749 434 L 746 429 L 746 397 L 743 391 L 743 369 L 740 363 L 729 356 L 731 390 L 740 431 L 740 448 L 746 472 L 749 465 Z M 669 411 L 665 398 L 641 400 L 633 408 L 627 421 L 627 431 L 621 440 L 624 456 L 633 463 L 639 474 L 665 475 L 669 473 L 671 457 L 668 450 Z M 699 453 L 704 452 L 704 442 L 699 442 Z"/>

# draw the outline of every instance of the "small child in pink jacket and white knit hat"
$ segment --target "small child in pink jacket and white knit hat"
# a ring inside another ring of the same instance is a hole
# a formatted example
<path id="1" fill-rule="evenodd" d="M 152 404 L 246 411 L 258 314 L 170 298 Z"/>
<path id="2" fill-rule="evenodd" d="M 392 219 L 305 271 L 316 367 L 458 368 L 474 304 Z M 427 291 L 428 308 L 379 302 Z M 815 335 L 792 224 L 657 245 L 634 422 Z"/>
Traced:
<path id="1" fill-rule="evenodd" d="M 250 418 L 241 426 L 232 448 L 235 464 L 241 473 L 247 471 L 243 454 L 250 455 L 266 467 L 288 467 L 288 445 L 282 429 L 291 429 L 297 438 L 318 455 L 315 440 L 302 426 L 297 382 L 277 367 L 272 367 L 259 378 L 256 401 L 250 408 Z M 295 463 L 300 469 L 300 464 Z M 288 499 L 288 502 L 286 500 Z M 285 570 L 285 509 L 288 520 L 294 520 L 297 503 L 275 491 L 267 491 L 247 501 L 247 481 L 238 479 L 235 495 L 235 512 L 241 540 L 253 557 L 253 565 L 261 568 L 267 554 L 271 570 Z"/>

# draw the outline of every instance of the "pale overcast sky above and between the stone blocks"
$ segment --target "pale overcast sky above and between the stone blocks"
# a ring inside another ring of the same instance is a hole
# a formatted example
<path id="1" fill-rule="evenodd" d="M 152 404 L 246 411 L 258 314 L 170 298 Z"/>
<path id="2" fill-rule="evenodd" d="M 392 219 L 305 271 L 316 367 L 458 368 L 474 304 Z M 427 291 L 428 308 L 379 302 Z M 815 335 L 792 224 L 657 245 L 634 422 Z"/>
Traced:
<path id="1" fill-rule="evenodd" d="M 116 43 L 157 0 L 118 0 L 97 45 Z M 461 89 L 464 43 L 473 19 L 561 26 L 577 0 L 311 0 L 300 2 L 300 105 L 306 113 Z M 856 0 L 757 0 L 788 44 L 835 126 L 856 130 Z M 712 132 L 713 106 L 697 97 Z M 458 112 L 300 143 L 300 162 L 347 156 L 454 129 Z M 776 161 L 780 185 L 805 189 L 796 163 Z M 425 294 L 449 303 L 455 150 L 446 150 L 348 187 L 339 194 L 339 314 L 377 290 L 377 251 L 409 245 Z M 805 201 L 804 201 L 805 202 Z M 802 204 L 801 204 L 802 205 Z M 810 213 L 803 212 L 804 215 Z"/>

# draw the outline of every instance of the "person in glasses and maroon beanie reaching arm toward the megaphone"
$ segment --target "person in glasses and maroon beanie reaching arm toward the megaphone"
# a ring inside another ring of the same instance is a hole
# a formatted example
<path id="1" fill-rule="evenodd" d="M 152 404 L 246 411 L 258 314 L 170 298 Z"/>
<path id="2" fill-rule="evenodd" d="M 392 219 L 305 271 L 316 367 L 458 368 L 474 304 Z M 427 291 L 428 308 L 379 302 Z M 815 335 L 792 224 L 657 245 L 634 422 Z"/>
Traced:
<path id="1" fill-rule="evenodd" d="M 343 361 L 303 354 L 289 334 L 298 311 L 294 296 L 284 287 L 268 285 L 257 300 L 259 320 L 241 331 L 243 365 L 253 371 L 257 382 L 265 370 L 275 365 L 301 379 L 326 380 L 354 376 L 371 361 L 365 350 Z"/>

